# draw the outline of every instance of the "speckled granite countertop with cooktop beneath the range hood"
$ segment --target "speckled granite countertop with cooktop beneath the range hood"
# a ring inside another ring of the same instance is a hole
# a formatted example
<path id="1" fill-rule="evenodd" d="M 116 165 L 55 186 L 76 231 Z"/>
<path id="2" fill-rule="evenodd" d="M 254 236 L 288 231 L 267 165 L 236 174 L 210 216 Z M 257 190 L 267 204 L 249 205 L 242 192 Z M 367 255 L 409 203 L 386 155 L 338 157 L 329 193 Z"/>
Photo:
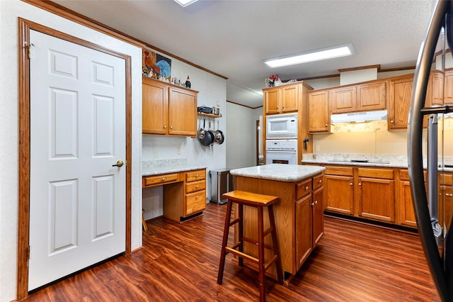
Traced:
<path id="1" fill-rule="evenodd" d="M 345 153 L 313 153 L 302 156 L 302 164 L 342 164 L 365 167 L 391 167 L 407 168 L 408 157 L 406 155 L 367 155 Z M 426 162 L 423 160 L 423 167 Z"/>

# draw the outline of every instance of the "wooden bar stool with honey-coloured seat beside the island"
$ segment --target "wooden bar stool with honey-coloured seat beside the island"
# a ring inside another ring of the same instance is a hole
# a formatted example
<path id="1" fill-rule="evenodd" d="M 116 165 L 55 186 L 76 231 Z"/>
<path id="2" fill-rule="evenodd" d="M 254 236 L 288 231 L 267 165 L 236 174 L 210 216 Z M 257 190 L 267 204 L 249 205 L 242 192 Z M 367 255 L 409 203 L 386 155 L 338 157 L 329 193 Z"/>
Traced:
<path id="1" fill-rule="evenodd" d="M 277 231 L 275 230 L 275 218 L 273 203 L 279 201 L 280 198 L 277 196 L 268 196 L 262 194 L 254 194 L 246 191 L 231 191 L 222 195 L 223 198 L 228 198 L 226 205 L 226 217 L 224 225 L 224 237 L 222 240 L 222 252 L 220 254 L 219 274 L 217 276 L 217 284 L 222 284 L 225 267 L 226 254 L 231 253 L 239 257 L 239 265 L 243 266 L 243 259 L 247 259 L 250 262 L 258 264 L 259 284 L 260 284 L 260 301 L 265 301 L 265 272 L 275 262 L 277 269 L 277 281 L 278 284 L 283 284 L 282 274 L 282 260 L 280 259 L 280 252 L 278 249 L 277 242 Z M 238 204 L 238 215 L 237 218 L 231 221 L 231 209 L 233 203 Z M 251 206 L 256 208 L 258 211 L 258 240 L 243 236 L 243 206 Z M 268 207 L 269 223 L 270 227 L 267 230 L 263 230 L 263 207 Z M 227 247 L 229 228 L 231 225 L 238 225 L 238 242 L 234 243 L 231 247 Z M 272 247 L 264 244 L 264 238 L 266 235 L 272 236 Z M 258 258 L 247 255 L 243 252 L 243 242 L 251 242 L 258 246 Z M 273 250 L 274 256 L 268 263 L 264 261 L 264 249 Z"/>

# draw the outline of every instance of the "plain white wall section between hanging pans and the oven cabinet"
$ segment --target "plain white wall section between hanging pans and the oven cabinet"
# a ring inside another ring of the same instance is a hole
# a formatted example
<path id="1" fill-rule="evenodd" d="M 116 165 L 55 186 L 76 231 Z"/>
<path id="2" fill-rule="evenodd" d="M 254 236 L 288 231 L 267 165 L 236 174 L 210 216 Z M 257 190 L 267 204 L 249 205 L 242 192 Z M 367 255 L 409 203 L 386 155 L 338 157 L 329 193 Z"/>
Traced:
<path id="1" fill-rule="evenodd" d="M 263 107 L 252 109 L 228 102 L 226 113 L 226 167 L 256 166 L 256 121 L 263 115 Z"/>

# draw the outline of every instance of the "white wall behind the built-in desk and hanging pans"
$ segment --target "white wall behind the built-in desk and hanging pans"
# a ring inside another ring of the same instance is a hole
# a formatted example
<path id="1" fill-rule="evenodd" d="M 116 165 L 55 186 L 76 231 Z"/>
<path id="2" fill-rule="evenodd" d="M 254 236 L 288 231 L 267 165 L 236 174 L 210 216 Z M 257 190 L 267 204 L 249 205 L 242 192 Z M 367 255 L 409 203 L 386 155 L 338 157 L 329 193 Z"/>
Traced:
<path id="1" fill-rule="evenodd" d="M 208 72 L 197 69 L 171 58 L 171 77 L 186 79 L 190 76 L 191 89 L 199 91 L 197 96 L 198 106 L 220 108 L 221 118 L 212 119 L 212 129 L 219 128 L 225 135 L 222 145 L 205 147 L 196 138 L 171 138 L 159 135 L 143 135 L 142 160 L 187 160 L 188 164 L 207 167 L 206 198 L 211 197 L 210 170 L 224 169 L 226 167 L 226 144 L 229 142 L 229 133 L 226 129 L 226 80 Z M 202 123 L 201 118 L 199 121 Z M 217 126 L 218 123 L 218 126 Z M 206 120 L 206 127 L 209 121 Z M 180 154 L 178 154 L 180 148 Z M 162 187 L 143 190 L 144 218 L 151 219 L 163 215 L 163 190 Z"/>

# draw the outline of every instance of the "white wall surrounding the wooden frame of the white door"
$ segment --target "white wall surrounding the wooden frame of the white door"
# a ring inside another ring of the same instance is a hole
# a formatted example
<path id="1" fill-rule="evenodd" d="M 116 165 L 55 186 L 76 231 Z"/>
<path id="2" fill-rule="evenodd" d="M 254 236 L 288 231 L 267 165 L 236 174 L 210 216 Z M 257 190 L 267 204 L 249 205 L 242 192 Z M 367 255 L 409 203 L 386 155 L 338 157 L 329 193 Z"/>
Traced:
<path id="1" fill-rule="evenodd" d="M 16 299 L 18 237 L 18 17 L 132 57 L 132 250 L 142 246 L 142 50 L 19 0 L 0 1 L 0 301 Z"/>

